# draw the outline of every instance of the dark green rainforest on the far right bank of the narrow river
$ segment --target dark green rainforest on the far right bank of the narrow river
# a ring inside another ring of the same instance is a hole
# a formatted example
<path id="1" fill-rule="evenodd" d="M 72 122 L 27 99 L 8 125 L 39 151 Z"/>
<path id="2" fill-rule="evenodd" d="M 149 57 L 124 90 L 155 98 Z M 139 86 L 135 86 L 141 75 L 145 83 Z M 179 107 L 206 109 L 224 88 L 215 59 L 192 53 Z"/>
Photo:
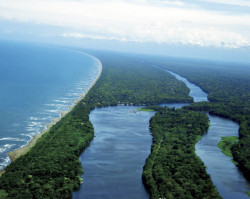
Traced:
<path id="1" fill-rule="evenodd" d="M 155 63 L 155 58 L 148 62 Z M 235 63 L 158 58 L 159 66 L 188 78 L 208 93 L 210 102 L 186 109 L 209 111 L 239 123 L 239 141 L 231 150 L 233 159 L 250 180 L 250 67 Z"/>

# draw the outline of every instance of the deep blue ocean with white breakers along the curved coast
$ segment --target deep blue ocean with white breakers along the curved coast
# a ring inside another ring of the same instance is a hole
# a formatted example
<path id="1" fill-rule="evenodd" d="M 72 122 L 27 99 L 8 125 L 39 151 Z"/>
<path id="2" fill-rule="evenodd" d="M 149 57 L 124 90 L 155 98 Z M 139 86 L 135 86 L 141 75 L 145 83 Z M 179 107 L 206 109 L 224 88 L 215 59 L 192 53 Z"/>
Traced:
<path id="1" fill-rule="evenodd" d="M 10 162 L 8 152 L 73 105 L 99 67 L 97 59 L 80 52 L 0 42 L 0 169 Z"/>

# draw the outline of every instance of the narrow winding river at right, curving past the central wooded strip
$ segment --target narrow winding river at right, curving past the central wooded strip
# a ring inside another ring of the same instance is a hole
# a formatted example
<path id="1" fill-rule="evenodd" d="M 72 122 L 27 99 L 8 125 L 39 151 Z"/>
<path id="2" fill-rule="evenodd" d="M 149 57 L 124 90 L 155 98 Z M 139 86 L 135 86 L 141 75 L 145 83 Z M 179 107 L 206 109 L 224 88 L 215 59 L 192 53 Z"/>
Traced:
<path id="1" fill-rule="evenodd" d="M 170 72 L 177 79 L 183 81 L 190 89 L 190 96 L 195 102 L 208 101 L 207 93 L 198 86 L 189 82 L 186 78 Z M 250 184 L 245 180 L 238 167 L 233 164 L 231 158 L 224 155 L 217 143 L 221 137 L 237 136 L 239 125 L 231 120 L 208 114 L 210 127 L 202 139 L 196 144 L 196 154 L 207 167 L 214 185 L 220 195 L 225 199 L 249 199 L 245 191 L 250 191 Z"/>

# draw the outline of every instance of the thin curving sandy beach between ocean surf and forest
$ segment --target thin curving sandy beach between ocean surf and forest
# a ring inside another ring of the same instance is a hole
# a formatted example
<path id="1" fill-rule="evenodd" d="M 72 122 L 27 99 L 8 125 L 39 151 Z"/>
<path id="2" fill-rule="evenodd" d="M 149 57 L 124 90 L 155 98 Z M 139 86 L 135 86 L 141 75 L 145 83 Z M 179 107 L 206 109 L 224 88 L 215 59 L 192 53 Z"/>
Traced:
<path id="1" fill-rule="evenodd" d="M 80 52 L 80 53 L 83 53 L 83 52 Z M 84 54 L 86 54 L 86 53 L 84 53 Z M 60 121 L 67 113 L 69 113 L 88 94 L 90 89 L 96 84 L 97 80 L 100 78 L 101 73 L 102 73 L 102 63 L 98 58 L 96 58 L 96 57 L 94 57 L 92 55 L 89 55 L 89 54 L 87 54 L 87 55 L 94 58 L 98 62 L 98 65 L 99 65 L 98 66 L 99 72 L 98 72 L 96 78 L 94 79 L 94 81 L 90 84 L 89 88 L 87 88 L 86 91 L 79 96 L 79 98 L 73 103 L 73 105 L 69 106 L 69 110 L 61 111 L 60 112 L 60 117 L 59 118 L 54 118 L 54 119 L 52 119 L 51 123 L 46 124 L 46 129 L 44 129 L 40 133 L 34 135 L 33 138 L 29 141 L 29 143 L 27 145 L 25 145 L 25 146 L 23 146 L 23 147 L 21 147 L 19 149 L 16 149 L 14 151 L 9 152 L 8 156 L 9 156 L 11 162 L 15 161 L 21 155 L 26 154 L 36 144 L 37 140 L 43 134 L 47 133 L 50 130 L 50 128 L 52 126 L 54 126 L 58 121 Z M 4 172 L 5 172 L 5 168 L 0 170 L 0 177 Z"/>

